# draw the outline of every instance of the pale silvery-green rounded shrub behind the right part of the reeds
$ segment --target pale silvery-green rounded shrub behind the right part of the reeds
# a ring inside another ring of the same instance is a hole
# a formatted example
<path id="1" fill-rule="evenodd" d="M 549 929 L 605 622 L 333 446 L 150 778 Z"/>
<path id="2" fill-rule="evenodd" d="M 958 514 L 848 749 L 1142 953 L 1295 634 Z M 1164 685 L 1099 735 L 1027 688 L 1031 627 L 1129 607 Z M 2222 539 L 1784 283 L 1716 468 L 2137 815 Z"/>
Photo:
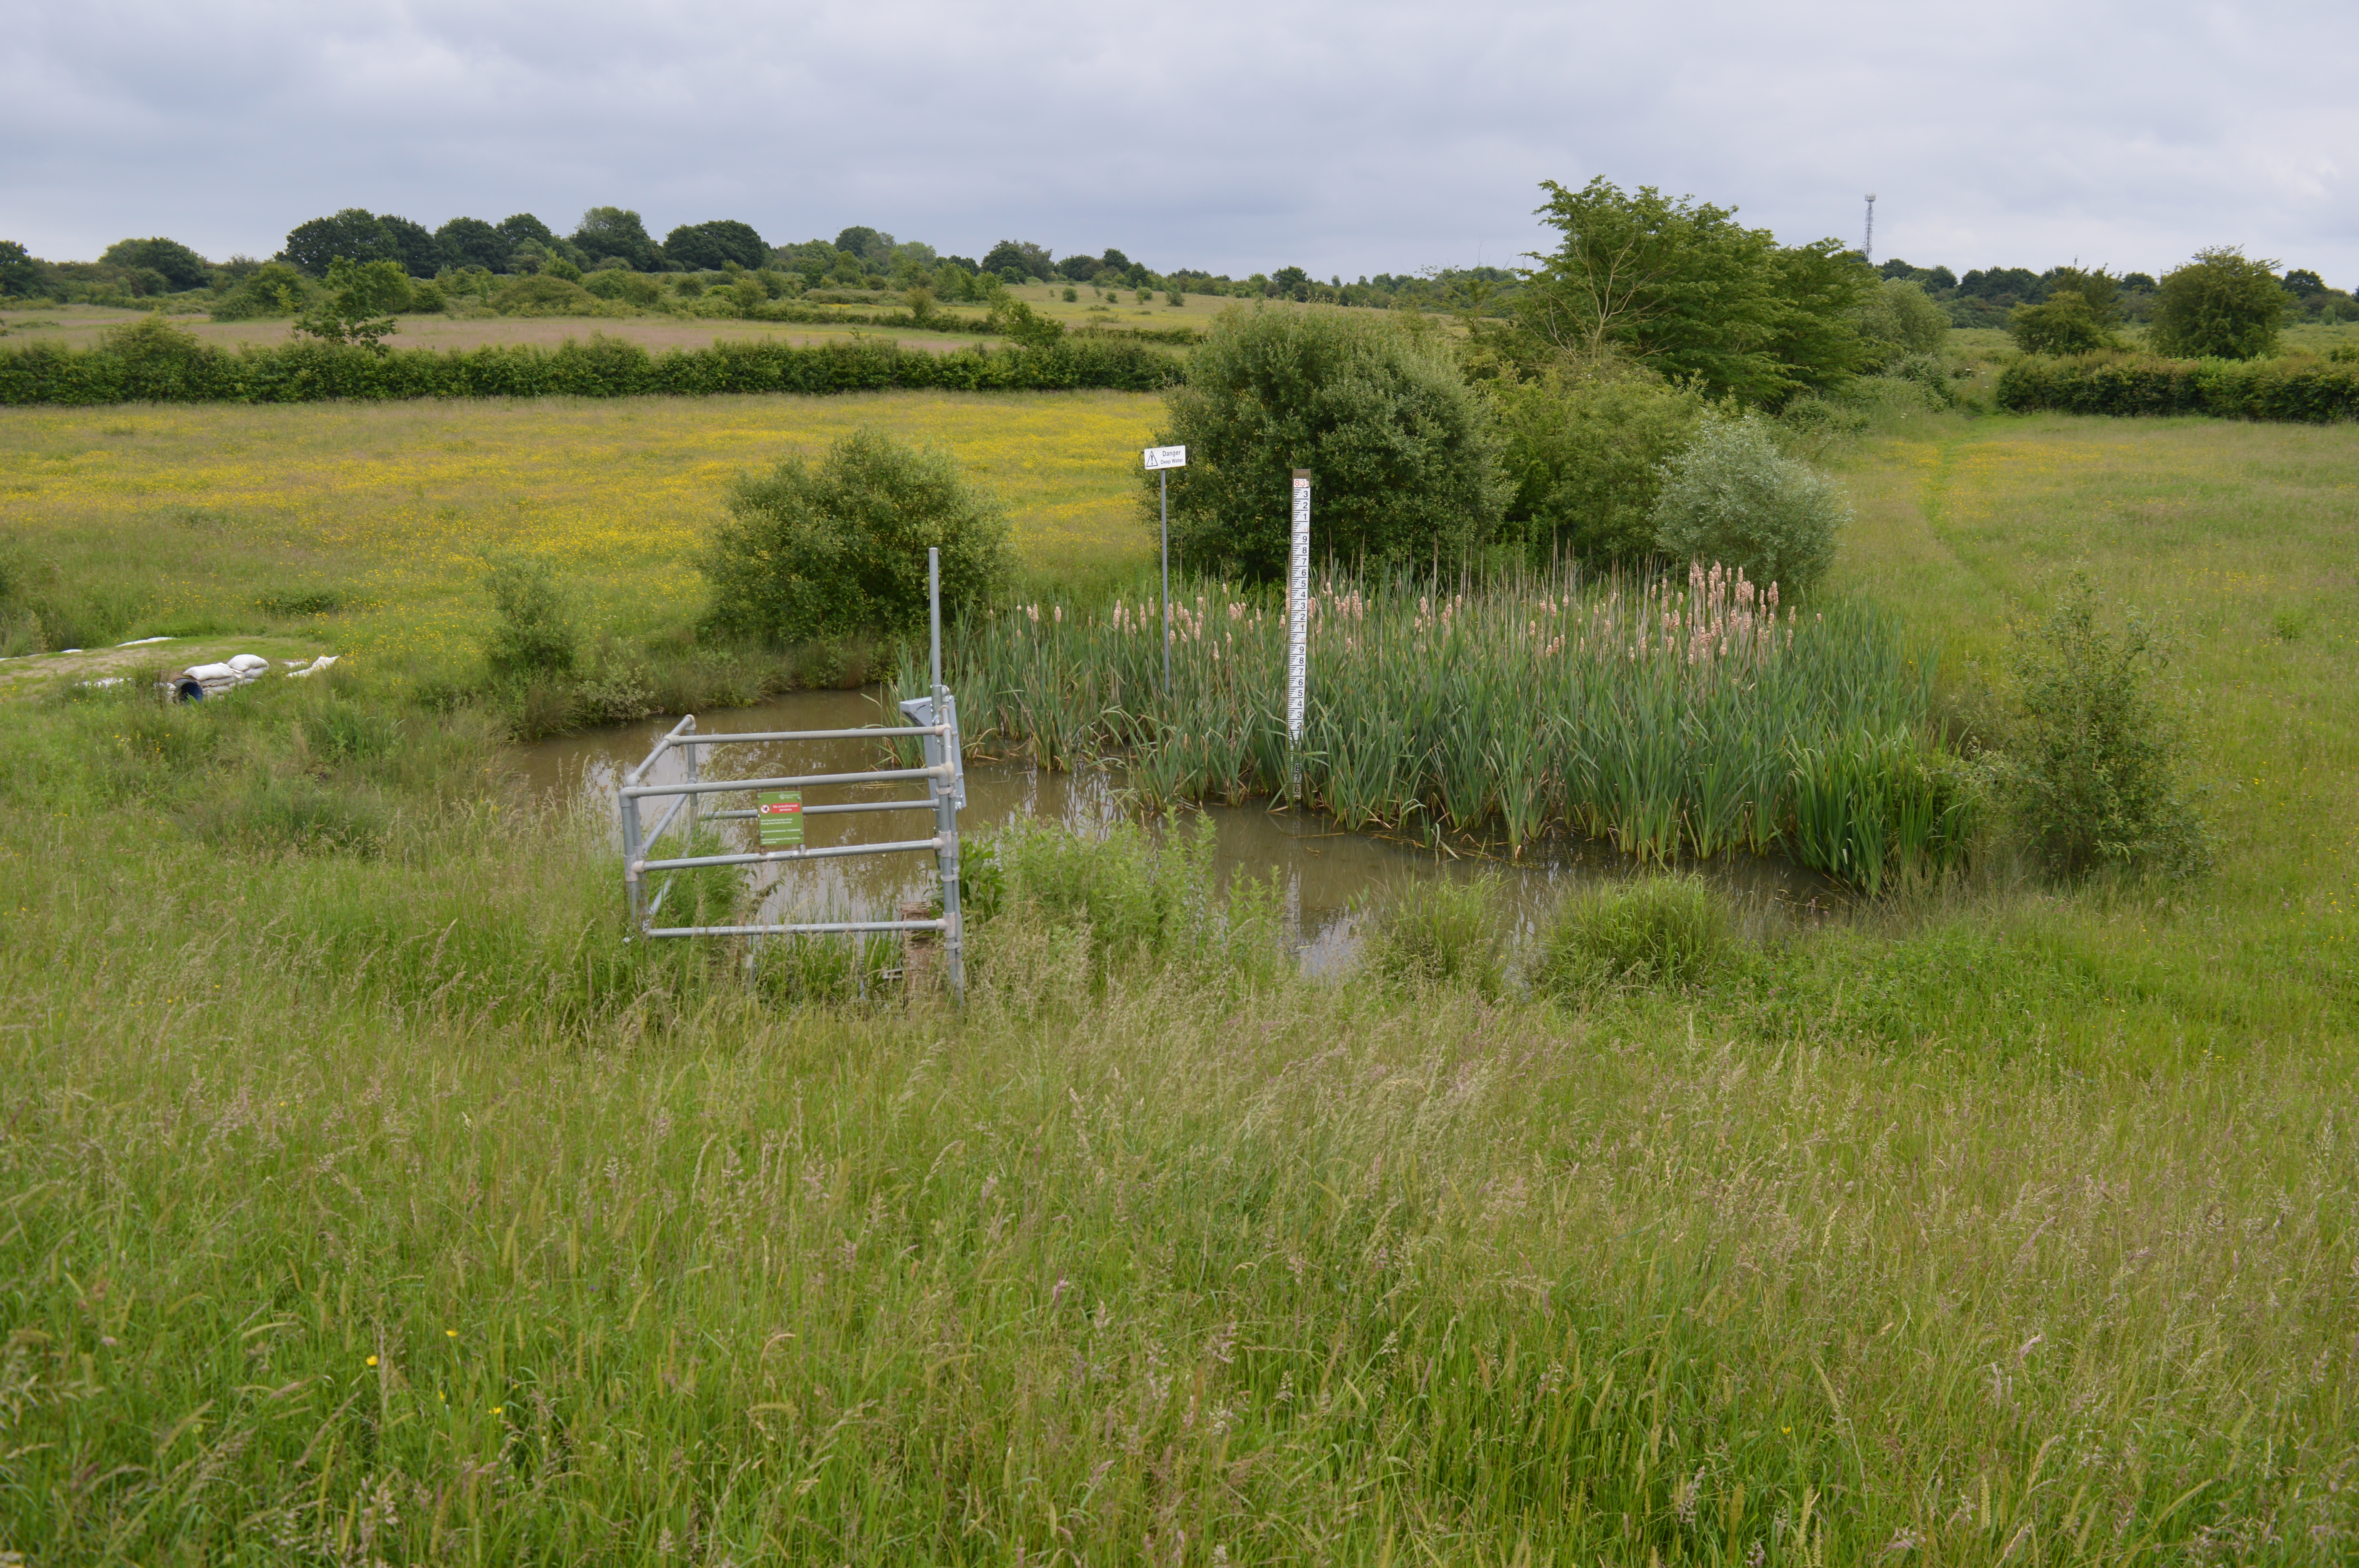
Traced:
<path id="1" fill-rule="evenodd" d="M 1769 422 L 1748 413 L 1708 420 L 1663 467 L 1654 542 L 1675 561 L 1715 561 L 1790 592 L 1835 559 L 1849 512 L 1833 479 L 1783 455 Z"/>

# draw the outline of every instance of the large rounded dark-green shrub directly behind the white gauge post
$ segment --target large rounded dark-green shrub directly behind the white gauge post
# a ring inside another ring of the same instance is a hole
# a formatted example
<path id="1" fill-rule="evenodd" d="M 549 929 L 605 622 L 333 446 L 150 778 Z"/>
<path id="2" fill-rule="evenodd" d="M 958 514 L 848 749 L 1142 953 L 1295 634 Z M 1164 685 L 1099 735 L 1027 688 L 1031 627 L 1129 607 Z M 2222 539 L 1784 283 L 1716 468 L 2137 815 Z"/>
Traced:
<path id="1" fill-rule="evenodd" d="M 1463 561 L 1498 528 L 1493 420 L 1448 347 L 1389 314 L 1231 309 L 1165 401 L 1154 439 L 1189 448 L 1172 547 L 1196 566 L 1281 575 L 1293 469 L 1312 472 L 1314 547 L 1345 561 Z"/>

